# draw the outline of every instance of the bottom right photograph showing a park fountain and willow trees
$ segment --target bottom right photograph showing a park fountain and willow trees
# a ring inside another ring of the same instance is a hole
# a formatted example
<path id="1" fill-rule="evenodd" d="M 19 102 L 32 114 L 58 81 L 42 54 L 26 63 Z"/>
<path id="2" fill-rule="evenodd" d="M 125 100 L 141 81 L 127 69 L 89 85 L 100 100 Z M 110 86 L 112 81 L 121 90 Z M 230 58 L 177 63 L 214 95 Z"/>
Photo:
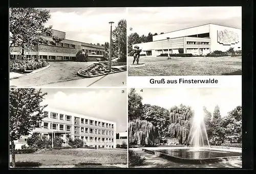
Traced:
<path id="1" fill-rule="evenodd" d="M 130 168 L 242 168 L 242 87 L 130 89 Z"/>

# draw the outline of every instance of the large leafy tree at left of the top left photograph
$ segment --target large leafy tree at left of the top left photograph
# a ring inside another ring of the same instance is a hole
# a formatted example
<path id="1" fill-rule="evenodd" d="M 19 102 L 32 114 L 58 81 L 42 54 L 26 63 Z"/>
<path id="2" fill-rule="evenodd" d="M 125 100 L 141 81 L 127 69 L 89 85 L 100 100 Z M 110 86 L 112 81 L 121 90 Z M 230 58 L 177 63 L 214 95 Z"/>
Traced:
<path id="1" fill-rule="evenodd" d="M 35 45 L 49 44 L 50 41 L 41 37 L 51 34 L 52 26 L 45 27 L 50 19 L 50 11 L 38 8 L 10 8 L 10 48 L 13 46 L 30 51 Z"/>

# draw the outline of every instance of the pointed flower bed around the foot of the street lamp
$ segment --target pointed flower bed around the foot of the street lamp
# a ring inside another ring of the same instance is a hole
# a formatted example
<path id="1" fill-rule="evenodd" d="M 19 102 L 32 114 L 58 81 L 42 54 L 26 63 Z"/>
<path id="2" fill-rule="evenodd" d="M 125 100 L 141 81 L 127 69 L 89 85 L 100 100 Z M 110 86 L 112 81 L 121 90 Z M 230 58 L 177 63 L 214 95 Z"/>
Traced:
<path id="1" fill-rule="evenodd" d="M 104 74 L 110 74 L 110 73 L 116 73 L 116 72 L 121 72 L 125 71 L 126 66 L 122 68 L 111 68 L 111 72 L 109 72 L 109 66 L 103 63 L 93 63 L 90 66 L 80 70 L 78 72 L 78 75 L 86 76 L 86 77 L 94 77 L 94 76 L 99 76 L 99 75 L 104 75 Z"/>

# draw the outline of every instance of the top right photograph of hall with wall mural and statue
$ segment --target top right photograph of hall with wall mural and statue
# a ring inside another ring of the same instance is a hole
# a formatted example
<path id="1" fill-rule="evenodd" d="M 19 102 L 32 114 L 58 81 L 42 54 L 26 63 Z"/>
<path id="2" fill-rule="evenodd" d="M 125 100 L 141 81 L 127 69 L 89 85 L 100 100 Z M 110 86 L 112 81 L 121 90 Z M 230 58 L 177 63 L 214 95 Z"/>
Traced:
<path id="1" fill-rule="evenodd" d="M 128 76 L 242 75 L 242 7 L 127 12 Z"/>

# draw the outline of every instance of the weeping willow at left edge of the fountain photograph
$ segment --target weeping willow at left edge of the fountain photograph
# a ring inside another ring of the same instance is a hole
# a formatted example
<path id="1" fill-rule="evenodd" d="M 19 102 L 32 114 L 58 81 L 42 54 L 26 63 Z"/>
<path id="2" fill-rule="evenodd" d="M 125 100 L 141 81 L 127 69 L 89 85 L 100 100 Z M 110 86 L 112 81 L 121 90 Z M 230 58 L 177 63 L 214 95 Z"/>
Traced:
<path id="1" fill-rule="evenodd" d="M 147 145 L 154 141 L 155 126 L 146 120 L 129 122 L 129 144 Z"/>

